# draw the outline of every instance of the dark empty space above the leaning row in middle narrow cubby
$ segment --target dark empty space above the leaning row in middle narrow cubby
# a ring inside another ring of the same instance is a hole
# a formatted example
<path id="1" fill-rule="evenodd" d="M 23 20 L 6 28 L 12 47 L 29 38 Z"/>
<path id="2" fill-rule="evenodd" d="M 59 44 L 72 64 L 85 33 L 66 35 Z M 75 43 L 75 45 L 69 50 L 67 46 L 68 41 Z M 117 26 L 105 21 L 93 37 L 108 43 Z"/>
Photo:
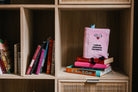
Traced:
<path id="1" fill-rule="evenodd" d="M 23 62 L 26 65 L 23 75 L 26 74 L 37 46 L 41 45 L 43 41 L 47 41 L 49 37 L 55 39 L 54 9 L 24 9 L 24 12 L 26 26 L 28 27 L 26 32 L 29 33 L 26 35 L 29 38 L 28 43 L 26 44 L 27 41 L 24 43 L 27 48 L 24 49 L 29 51 L 24 53 L 28 56 Z"/>

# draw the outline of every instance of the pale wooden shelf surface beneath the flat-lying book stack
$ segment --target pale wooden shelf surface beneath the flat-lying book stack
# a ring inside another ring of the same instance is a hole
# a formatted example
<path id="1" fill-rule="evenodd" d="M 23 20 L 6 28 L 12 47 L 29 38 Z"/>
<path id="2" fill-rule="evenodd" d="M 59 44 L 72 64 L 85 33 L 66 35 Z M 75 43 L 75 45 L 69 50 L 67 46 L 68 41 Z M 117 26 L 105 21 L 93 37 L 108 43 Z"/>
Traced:
<path id="1" fill-rule="evenodd" d="M 95 77 L 95 76 L 87 76 L 87 75 L 79 75 L 79 74 L 73 74 L 73 73 L 67 73 L 65 72 L 65 68 L 61 69 L 61 72 L 59 72 L 59 75 L 57 78 L 61 80 L 68 80 L 68 79 L 78 79 L 78 80 L 83 80 L 83 79 L 99 79 L 99 80 L 128 80 L 129 77 L 125 75 L 124 73 L 120 73 L 118 71 L 113 71 L 111 73 L 108 73 L 104 76 L 101 77 Z"/>

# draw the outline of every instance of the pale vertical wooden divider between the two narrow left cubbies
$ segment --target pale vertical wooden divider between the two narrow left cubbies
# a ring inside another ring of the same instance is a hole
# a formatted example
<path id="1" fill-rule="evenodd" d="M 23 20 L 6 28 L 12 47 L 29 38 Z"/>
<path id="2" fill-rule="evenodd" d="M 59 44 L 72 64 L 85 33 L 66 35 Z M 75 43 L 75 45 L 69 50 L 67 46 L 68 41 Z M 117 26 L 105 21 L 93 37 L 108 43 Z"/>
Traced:
<path id="1" fill-rule="evenodd" d="M 28 9 L 21 9 L 22 17 L 22 45 L 21 45 L 21 59 L 22 59 L 22 75 L 25 75 L 28 67 L 30 45 L 32 45 L 32 13 Z"/>

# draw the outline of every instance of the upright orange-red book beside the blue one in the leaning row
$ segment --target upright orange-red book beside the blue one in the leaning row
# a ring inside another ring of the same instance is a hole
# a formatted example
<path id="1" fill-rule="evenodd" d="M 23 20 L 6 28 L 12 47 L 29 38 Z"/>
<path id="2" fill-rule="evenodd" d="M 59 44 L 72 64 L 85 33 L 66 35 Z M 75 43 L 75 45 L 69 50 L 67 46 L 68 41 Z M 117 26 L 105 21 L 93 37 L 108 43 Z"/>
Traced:
<path id="1" fill-rule="evenodd" d="M 51 71 L 52 49 L 53 49 L 53 40 L 49 40 L 48 58 L 47 58 L 47 71 L 46 71 L 47 74 L 50 74 L 50 71 Z"/>

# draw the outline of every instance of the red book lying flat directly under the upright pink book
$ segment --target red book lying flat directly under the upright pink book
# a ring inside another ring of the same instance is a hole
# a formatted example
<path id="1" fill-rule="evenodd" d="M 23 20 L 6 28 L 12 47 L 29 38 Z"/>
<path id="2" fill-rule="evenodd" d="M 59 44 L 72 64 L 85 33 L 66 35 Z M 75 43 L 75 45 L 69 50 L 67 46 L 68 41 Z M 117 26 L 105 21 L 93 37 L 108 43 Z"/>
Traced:
<path id="1" fill-rule="evenodd" d="M 91 63 L 91 58 L 77 57 L 77 61 Z M 94 58 L 94 62 L 96 64 L 109 64 L 109 63 L 113 62 L 113 57 L 107 58 L 107 59 L 104 59 L 104 60 L 100 60 L 99 58 Z"/>

